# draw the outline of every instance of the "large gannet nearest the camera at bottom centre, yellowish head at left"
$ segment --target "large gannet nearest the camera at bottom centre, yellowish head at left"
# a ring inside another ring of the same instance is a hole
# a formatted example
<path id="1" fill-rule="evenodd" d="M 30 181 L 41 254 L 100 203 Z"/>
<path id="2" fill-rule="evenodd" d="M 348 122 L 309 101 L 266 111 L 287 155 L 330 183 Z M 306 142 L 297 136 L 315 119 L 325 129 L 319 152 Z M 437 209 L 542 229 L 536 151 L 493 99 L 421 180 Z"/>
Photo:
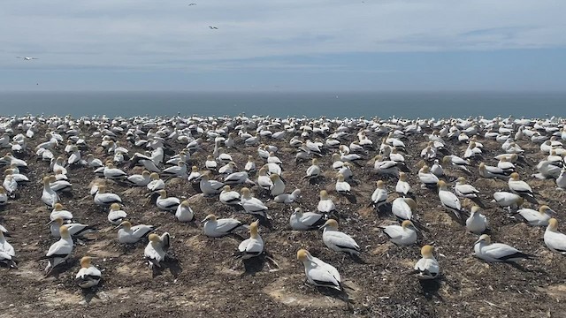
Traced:
<path id="1" fill-rule="evenodd" d="M 310 284 L 342 291 L 340 274 L 332 265 L 313 257 L 304 249 L 297 252 L 297 260 L 302 261 L 304 273 Z"/>

